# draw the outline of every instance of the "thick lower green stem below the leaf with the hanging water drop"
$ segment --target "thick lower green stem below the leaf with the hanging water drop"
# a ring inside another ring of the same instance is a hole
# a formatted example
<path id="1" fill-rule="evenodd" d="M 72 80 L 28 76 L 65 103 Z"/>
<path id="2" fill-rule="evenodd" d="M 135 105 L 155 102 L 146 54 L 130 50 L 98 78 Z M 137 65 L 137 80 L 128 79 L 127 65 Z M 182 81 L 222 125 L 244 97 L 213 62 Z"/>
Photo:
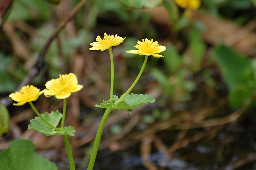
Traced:
<path id="1" fill-rule="evenodd" d="M 95 140 L 94 140 L 93 150 L 91 152 L 91 158 L 90 158 L 87 170 L 93 170 L 94 162 L 95 162 L 96 155 L 97 155 L 98 148 L 99 148 L 99 142 L 101 140 L 101 135 L 102 135 L 105 123 L 106 123 L 111 111 L 112 110 L 110 108 L 107 108 L 104 115 L 102 116 L 101 123 L 99 123 L 99 128 L 98 128 Z"/>

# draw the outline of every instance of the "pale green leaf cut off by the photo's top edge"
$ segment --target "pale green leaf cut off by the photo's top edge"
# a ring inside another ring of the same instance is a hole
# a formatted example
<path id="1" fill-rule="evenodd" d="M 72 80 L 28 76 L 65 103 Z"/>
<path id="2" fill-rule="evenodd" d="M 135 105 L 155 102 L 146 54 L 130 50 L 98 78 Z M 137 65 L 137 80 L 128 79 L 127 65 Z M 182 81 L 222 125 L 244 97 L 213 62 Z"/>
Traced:
<path id="1" fill-rule="evenodd" d="M 135 9 L 155 8 L 163 4 L 163 0 L 119 0 L 127 7 Z"/>

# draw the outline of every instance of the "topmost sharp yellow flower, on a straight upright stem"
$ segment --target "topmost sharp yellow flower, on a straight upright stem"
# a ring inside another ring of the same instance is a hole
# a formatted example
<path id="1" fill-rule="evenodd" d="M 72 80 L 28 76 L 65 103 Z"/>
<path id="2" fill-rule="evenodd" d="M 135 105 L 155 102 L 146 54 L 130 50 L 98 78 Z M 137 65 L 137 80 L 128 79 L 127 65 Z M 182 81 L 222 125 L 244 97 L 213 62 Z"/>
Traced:
<path id="1" fill-rule="evenodd" d="M 104 51 L 104 50 L 108 49 L 109 47 L 117 46 L 117 45 L 121 44 L 125 38 L 117 36 L 117 34 L 114 36 L 114 35 L 107 35 L 106 33 L 104 33 L 103 39 L 101 39 L 100 36 L 96 37 L 97 42 L 91 43 L 90 45 L 93 47 L 89 48 L 89 50 Z"/>

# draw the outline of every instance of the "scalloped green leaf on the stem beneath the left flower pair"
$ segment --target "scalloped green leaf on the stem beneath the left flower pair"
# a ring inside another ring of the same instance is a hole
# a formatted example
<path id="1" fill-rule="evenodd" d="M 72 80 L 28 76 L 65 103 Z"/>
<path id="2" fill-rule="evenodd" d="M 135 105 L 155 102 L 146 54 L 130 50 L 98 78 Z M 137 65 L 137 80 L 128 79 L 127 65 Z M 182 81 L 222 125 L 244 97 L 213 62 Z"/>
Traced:
<path id="1" fill-rule="evenodd" d="M 41 116 L 45 118 L 45 120 L 47 120 L 54 127 L 57 127 L 57 125 L 60 122 L 60 119 L 62 118 L 62 114 L 59 111 L 51 112 L 50 114 L 46 112 L 45 114 L 41 114 Z M 75 136 L 74 135 L 75 130 L 71 126 L 64 127 L 60 131 L 56 131 L 52 129 L 50 126 L 48 126 L 46 123 L 44 123 L 42 119 L 39 117 L 35 117 L 35 119 L 30 120 L 30 122 L 31 124 L 29 124 L 28 129 L 37 130 L 45 134 L 46 136 L 54 136 L 54 135 Z"/>

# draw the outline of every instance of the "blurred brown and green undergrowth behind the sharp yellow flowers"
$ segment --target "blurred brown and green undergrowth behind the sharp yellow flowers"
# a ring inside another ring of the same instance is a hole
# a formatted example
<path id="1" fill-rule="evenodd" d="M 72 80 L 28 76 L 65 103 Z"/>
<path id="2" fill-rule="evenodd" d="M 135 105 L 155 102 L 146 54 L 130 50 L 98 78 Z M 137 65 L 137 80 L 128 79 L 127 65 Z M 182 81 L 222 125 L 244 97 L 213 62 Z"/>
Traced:
<path id="1" fill-rule="evenodd" d="M 69 169 L 62 137 L 27 130 L 36 115 L 29 104 L 13 106 L 8 95 L 27 84 L 42 90 L 48 80 L 73 72 L 83 89 L 68 98 L 66 122 L 76 130 L 69 138 L 76 169 L 87 168 L 105 111 L 95 104 L 108 100 L 110 90 L 109 53 L 89 48 L 106 32 L 126 37 L 112 48 L 118 96 L 144 60 L 125 51 L 145 38 L 166 50 L 162 58 L 149 57 L 132 90 L 156 102 L 131 115 L 111 112 L 95 170 L 256 169 L 256 0 L 199 3 L 0 0 L 0 100 L 10 114 L 0 150 L 30 139 L 39 155 Z M 40 96 L 34 104 L 41 113 L 63 107 L 54 97 Z"/>

